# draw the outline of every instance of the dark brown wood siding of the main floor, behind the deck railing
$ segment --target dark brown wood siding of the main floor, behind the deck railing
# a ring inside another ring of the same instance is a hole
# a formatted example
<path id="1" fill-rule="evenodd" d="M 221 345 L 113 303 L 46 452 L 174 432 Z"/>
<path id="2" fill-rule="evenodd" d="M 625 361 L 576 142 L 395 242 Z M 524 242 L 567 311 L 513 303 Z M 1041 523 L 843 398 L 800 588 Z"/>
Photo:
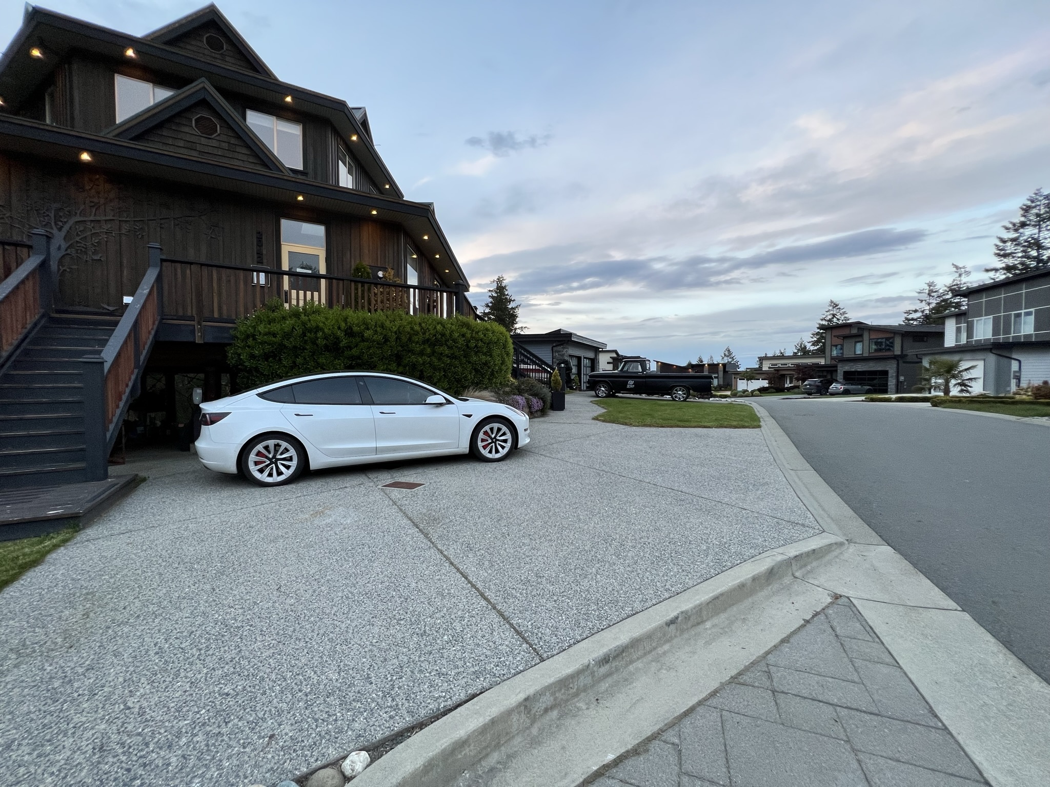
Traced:
<path id="1" fill-rule="evenodd" d="M 349 276 L 363 262 L 393 268 L 404 281 L 405 239 L 397 225 L 0 154 L 0 237 L 28 237 L 35 228 L 65 231 L 68 251 L 59 261 L 59 302 L 64 306 L 119 311 L 122 296 L 134 293 L 142 281 L 151 242 L 160 243 L 166 257 L 279 268 L 282 217 L 329 228 L 329 273 Z M 419 262 L 419 283 L 433 285 L 433 269 L 422 256 Z M 232 317 L 238 304 L 255 303 L 262 295 L 238 272 L 212 271 L 205 274 L 210 282 L 194 283 L 194 269 L 169 268 L 166 263 L 166 309 L 207 295 L 227 298 L 228 303 L 209 309 Z M 274 290 L 267 297 L 276 295 Z"/>

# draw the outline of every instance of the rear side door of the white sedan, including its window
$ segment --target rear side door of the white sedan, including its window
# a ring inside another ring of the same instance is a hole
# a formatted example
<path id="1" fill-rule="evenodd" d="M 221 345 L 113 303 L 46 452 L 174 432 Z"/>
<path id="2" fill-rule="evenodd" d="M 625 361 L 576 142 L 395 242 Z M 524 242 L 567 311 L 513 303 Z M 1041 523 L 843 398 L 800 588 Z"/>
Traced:
<path id="1" fill-rule="evenodd" d="M 376 427 L 360 378 L 322 377 L 290 385 L 294 404 L 281 413 L 321 453 L 333 459 L 374 456 Z"/>

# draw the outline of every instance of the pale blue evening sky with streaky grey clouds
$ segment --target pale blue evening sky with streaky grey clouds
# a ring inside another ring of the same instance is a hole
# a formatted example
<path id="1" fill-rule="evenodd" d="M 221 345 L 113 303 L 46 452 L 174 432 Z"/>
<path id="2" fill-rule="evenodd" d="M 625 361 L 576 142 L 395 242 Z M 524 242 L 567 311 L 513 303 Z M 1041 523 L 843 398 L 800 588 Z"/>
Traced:
<path id="1" fill-rule="evenodd" d="M 49 0 L 142 35 L 203 3 Z M 369 110 L 485 300 L 682 363 L 789 350 L 828 299 L 899 322 L 1050 188 L 1050 3 L 313 2 L 219 8 Z M 0 40 L 22 3 L 0 3 Z"/>

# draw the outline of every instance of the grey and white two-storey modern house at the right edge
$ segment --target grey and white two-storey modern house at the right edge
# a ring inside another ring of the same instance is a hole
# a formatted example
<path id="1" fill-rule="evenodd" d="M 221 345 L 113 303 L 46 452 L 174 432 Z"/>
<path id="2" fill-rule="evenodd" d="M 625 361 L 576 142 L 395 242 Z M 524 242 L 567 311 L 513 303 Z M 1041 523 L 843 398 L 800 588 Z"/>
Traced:
<path id="1" fill-rule="evenodd" d="M 958 291 L 966 309 L 945 317 L 944 347 L 923 362 L 952 358 L 973 366 L 974 393 L 1010 393 L 1050 380 L 1050 270 Z"/>

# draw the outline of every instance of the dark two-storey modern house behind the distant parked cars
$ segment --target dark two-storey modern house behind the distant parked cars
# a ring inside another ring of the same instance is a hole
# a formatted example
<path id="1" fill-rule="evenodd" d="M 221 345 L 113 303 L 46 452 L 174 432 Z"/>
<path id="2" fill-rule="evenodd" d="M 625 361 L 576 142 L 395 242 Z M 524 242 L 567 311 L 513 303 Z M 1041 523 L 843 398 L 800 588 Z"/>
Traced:
<path id="1" fill-rule="evenodd" d="M 872 325 L 853 321 L 827 328 L 824 363 L 836 379 L 870 385 L 877 393 L 906 393 L 919 384 L 921 356 L 944 346 L 944 325 Z"/>

